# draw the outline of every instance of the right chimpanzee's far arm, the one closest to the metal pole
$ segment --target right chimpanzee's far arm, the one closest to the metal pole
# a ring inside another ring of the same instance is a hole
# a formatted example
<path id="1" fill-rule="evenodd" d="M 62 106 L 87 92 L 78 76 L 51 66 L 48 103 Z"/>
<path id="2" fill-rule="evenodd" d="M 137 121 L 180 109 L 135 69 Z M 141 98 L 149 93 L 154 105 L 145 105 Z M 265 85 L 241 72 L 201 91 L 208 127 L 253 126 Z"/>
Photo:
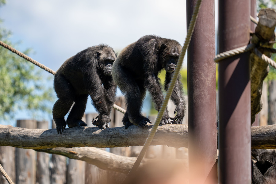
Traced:
<path id="1" fill-rule="evenodd" d="M 166 79 L 165 79 L 166 91 L 168 90 L 172 76 L 173 76 L 173 72 L 166 72 Z M 177 113 L 175 117 L 170 117 L 173 120 L 172 124 L 182 124 L 182 120 L 186 111 L 186 103 L 185 103 L 185 98 L 183 97 L 182 82 L 180 81 L 180 75 L 176 80 L 174 90 L 171 95 L 171 100 L 174 102 L 174 105 L 176 105 L 174 114 Z"/>

